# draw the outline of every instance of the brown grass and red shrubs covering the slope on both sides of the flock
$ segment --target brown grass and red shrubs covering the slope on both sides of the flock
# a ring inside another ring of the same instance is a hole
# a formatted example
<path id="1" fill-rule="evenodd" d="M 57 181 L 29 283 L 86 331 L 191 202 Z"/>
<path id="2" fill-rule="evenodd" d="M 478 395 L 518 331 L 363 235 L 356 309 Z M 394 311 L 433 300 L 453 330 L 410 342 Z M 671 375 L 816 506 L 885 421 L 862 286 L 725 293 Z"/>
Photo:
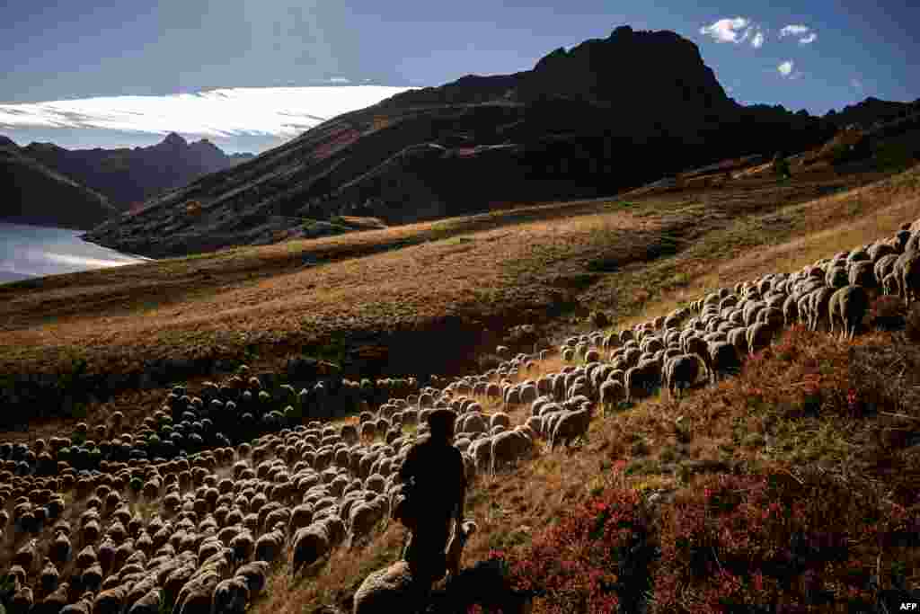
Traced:
<path id="1" fill-rule="evenodd" d="M 500 330 L 527 309 L 553 342 L 571 330 L 619 330 L 920 218 L 920 168 L 850 190 L 868 179 L 880 178 L 749 180 L 628 206 L 549 205 L 144 265 L 176 280 L 177 296 L 156 295 L 140 269 L 86 273 L 93 315 L 69 306 L 80 291 L 61 278 L 26 293 L 16 284 L 2 307 L 4 368 L 78 369 L 79 378 L 171 352 L 228 366 L 249 353 L 269 369 L 327 340 L 344 362 L 381 330 L 392 331 L 390 348 L 409 330 L 439 347 L 452 327 L 445 315 Z M 299 271 L 306 257 L 317 260 Z M 213 277 L 196 288 L 202 265 Z M 249 281 L 257 271 L 266 277 Z M 138 307 L 144 300 L 154 304 Z M 538 449 L 500 479 L 480 477 L 467 502 L 479 529 L 465 564 L 500 562 L 547 614 L 868 611 L 903 599 L 920 585 L 920 307 L 880 297 L 863 325 L 852 342 L 793 327 L 738 377 L 683 400 L 623 405 L 595 419 L 575 450 Z M 40 357 L 29 344 L 41 342 L 57 353 Z M 438 359 L 420 346 L 421 362 Z M 457 347 L 444 365 L 474 368 L 482 348 Z M 560 365 L 546 360 L 517 379 Z M 161 398 L 130 390 L 81 411 L 90 426 L 116 409 L 138 423 Z M 292 579 L 282 563 L 255 608 L 347 608 L 404 537 L 391 524 L 308 577 Z"/>

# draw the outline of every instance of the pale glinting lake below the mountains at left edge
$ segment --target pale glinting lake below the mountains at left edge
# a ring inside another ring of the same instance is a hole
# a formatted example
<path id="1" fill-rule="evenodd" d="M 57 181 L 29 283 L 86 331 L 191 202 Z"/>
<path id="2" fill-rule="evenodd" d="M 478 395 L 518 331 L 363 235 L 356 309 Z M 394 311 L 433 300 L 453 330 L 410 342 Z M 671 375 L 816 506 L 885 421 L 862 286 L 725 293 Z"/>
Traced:
<path id="1" fill-rule="evenodd" d="M 0 284 L 150 260 L 88 243 L 80 238 L 83 233 L 0 222 Z"/>

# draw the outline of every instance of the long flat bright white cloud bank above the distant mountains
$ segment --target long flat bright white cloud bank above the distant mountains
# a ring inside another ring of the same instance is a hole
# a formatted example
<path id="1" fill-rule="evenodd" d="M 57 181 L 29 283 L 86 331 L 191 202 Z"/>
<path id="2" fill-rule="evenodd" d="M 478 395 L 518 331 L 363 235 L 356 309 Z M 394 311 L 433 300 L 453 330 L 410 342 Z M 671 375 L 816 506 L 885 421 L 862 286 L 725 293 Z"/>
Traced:
<path id="1" fill-rule="evenodd" d="M 228 87 L 194 94 L 0 104 L 0 129 L 97 128 L 208 137 L 292 137 L 407 89 L 412 87 Z"/>

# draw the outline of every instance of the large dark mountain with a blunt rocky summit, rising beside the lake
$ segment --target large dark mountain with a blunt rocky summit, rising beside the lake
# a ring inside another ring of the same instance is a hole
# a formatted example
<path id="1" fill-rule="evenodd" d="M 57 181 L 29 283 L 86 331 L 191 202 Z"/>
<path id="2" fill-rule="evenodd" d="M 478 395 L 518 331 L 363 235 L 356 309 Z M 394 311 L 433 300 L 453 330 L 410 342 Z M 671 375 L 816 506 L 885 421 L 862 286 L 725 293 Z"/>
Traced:
<path id="1" fill-rule="evenodd" d="M 609 195 L 729 157 L 802 151 L 836 130 L 805 111 L 744 107 L 695 43 L 623 26 L 529 71 L 466 75 L 340 115 L 86 237 L 163 257 L 309 237 L 341 215 L 404 224 Z"/>

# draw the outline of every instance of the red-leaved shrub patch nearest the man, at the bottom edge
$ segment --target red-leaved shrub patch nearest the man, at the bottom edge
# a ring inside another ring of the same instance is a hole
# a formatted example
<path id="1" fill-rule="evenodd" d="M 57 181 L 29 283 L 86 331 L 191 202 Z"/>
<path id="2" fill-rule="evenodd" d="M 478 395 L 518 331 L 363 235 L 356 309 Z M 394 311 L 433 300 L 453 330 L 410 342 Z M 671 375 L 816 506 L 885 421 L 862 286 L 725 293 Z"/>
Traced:
<path id="1" fill-rule="evenodd" d="M 490 556 L 507 564 L 513 588 L 535 591 L 535 611 L 636 611 L 650 586 L 649 538 L 638 492 L 610 488 L 529 546 Z"/>

